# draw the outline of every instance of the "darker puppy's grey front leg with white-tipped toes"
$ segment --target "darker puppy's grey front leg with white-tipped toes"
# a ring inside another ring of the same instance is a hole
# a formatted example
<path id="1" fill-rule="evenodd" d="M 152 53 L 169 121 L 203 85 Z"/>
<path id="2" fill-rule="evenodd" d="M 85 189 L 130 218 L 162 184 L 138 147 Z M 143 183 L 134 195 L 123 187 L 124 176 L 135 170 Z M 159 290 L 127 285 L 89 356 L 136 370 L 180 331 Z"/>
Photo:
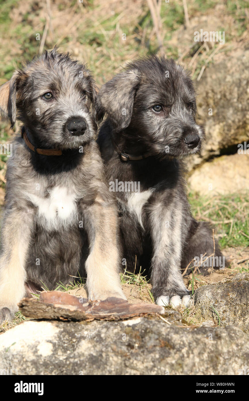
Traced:
<path id="1" fill-rule="evenodd" d="M 187 306 L 190 296 L 181 275 L 181 205 L 158 203 L 149 215 L 153 241 L 152 293 L 157 305 Z"/>

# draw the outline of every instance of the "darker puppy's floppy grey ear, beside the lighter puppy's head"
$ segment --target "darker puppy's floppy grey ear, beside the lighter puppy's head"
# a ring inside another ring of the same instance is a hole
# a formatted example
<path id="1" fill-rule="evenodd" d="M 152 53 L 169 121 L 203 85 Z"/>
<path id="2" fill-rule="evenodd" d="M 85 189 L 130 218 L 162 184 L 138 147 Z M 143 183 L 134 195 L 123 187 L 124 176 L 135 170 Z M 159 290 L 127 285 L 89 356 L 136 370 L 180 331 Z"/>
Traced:
<path id="1" fill-rule="evenodd" d="M 131 122 L 131 114 L 140 76 L 137 70 L 124 71 L 105 83 L 97 98 L 97 118 L 105 114 L 120 129 Z"/>

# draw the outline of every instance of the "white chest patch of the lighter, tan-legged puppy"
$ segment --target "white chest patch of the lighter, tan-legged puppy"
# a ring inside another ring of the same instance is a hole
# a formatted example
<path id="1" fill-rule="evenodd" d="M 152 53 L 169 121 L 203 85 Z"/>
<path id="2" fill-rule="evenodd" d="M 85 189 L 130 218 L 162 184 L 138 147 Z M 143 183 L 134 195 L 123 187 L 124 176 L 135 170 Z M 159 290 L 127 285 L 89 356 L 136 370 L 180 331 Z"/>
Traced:
<path id="1" fill-rule="evenodd" d="M 39 219 L 48 228 L 70 225 L 76 218 L 76 194 L 66 187 L 53 188 L 47 197 L 35 194 L 29 197 L 38 207 Z"/>

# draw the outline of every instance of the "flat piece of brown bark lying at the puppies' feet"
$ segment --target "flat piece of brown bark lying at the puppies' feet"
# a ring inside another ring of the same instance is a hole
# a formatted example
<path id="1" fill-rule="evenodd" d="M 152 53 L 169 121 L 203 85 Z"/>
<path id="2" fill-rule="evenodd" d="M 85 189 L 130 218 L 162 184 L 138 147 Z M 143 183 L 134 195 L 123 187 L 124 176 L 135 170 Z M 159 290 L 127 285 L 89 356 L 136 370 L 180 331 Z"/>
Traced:
<path id="1" fill-rule="evenodd" d="M 61 291 L 44 291 L 38 300 L 24 298 L 18 306 L 28 318 L 49 320 L 123 320 L 165 312 L 163 306 L 155 304 L 129 304 L 126 300 L 112 297 L 92 301 Z"/>

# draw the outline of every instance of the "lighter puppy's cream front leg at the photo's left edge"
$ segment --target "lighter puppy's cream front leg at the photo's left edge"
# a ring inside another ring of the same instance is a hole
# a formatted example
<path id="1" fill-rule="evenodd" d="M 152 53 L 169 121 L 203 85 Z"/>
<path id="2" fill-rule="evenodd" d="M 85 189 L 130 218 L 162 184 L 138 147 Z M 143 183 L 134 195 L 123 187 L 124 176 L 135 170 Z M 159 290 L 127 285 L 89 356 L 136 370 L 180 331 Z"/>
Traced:
<path id="1" fill-rule="evenodd" d="M 34 221 L 32 209 L 6 210 L 2 219 L 0 256 L 0 323 L 11 321 L 25 296 L 25 260 Z"/>

